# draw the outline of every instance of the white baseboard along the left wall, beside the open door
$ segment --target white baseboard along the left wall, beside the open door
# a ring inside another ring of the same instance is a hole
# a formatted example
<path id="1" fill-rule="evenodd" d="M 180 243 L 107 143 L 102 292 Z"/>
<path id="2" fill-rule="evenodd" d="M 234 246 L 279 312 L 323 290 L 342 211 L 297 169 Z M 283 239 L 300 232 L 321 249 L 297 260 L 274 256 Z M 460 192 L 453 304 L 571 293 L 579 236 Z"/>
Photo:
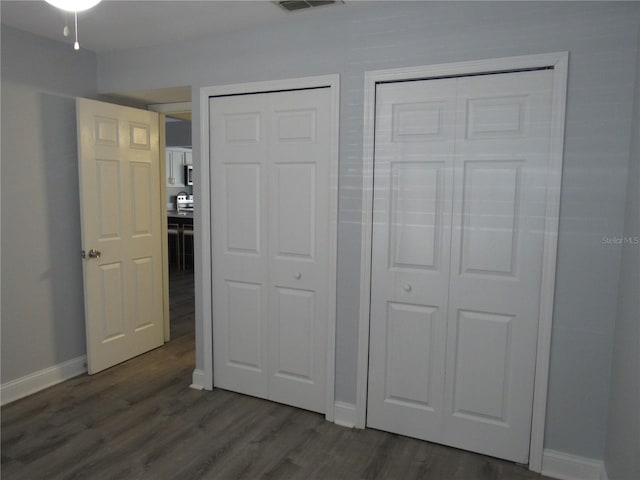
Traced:
<path id="1" fill-rule="evenodd" d="M 72 358 L 53 367 L 30 373 L 24 377 L 3 383 L 0 386 L 0 401 L 2 405 L 44 390 L 57 383 L 64 382 L 87 371 L 87 357 Z"/>

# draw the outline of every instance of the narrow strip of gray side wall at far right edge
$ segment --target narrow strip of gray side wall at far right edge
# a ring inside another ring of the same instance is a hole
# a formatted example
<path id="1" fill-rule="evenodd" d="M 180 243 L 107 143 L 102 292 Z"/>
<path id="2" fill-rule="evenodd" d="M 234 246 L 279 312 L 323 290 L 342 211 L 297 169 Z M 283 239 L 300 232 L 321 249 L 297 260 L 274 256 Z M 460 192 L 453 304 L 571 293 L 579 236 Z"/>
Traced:
<path id="1" fill-rule="evenodd" d="M 640 478 L 640 54 L 631 145 L 605 455 L 610 480 Z"/>

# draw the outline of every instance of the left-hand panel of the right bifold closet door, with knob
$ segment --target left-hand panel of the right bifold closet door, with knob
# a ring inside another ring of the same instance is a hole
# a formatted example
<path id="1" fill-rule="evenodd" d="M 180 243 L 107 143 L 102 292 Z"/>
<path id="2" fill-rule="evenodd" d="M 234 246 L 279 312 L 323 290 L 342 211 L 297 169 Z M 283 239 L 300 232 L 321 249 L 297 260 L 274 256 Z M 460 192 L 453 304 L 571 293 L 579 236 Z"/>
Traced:
<path id="1" fill-rule="evenodd" d="M 437 441 L 443 418 L 455 82 L 377 90 L 367 425 Z"/>

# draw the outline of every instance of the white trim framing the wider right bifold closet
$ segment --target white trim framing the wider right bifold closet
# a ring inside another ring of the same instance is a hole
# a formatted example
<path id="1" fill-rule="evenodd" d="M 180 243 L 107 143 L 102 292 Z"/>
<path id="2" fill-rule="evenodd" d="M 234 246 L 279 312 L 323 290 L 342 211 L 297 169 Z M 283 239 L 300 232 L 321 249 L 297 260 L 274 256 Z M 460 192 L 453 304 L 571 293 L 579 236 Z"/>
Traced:
<path id="1" fill-rule="evenodd" d="M 540 472 L 542 470 L 547 383 L 549 377 L 549 355 L 551 350 L 551 324 L 553 320 L 553 295 L 555 288 L 558 221 L 560 213 L 560 185 L 562 180 L 568 65 L 568 52 L 557 52 L 365 72 L 364 144 L 362 167 L 362 238 L 360 250 L 360 318 L 358 334 L 358 384 L 356 390 L 357 427 L 365 427 L 367 410 L 376 84 L 381 82 L 553 67 L 551 143 L 549 149 L 549 188 L 547 191 L 540 318 L 538 326 L 531 444 L 529 448 L 529 469 L 535 472 Z"/>

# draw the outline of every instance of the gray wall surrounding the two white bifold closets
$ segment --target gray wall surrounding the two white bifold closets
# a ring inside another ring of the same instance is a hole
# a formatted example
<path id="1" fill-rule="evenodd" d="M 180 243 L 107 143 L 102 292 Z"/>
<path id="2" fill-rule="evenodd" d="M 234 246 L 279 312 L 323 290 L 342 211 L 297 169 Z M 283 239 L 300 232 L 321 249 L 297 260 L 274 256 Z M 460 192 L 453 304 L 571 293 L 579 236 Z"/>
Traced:
<path id="1" fill-rule="evenodd" d="M 545 446 L 603 458 L 621 248 L 603 247 L 602 237 L 623 231 L 639 9 L 610 2 L 377 2 L 336 8 L 322 20 L 301 14 L 294 22 L 292 15 L 290 23 L 249 33 L 100 55 L 98 87 L 192 85 L 197 124 L 198 87 L 341 75 L 336 396 L 354 402 L 364 71 L 569 51 Z M 196 166 L 199 142 L 194 129 Z M 197 321 L 201 339 L 200 327 Z"/>

